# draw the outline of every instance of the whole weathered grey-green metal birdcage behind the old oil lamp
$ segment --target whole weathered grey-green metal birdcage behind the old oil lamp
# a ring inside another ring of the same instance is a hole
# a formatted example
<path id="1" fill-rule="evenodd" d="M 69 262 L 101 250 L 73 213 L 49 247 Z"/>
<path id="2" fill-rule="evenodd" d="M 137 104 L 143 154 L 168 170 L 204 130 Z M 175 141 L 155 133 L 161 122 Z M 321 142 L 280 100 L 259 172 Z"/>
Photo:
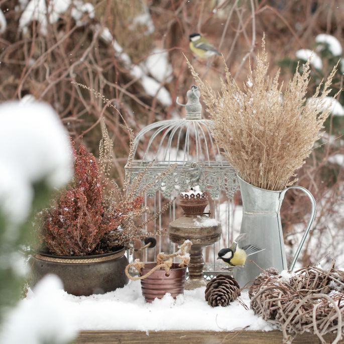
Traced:
<path id="1" fill-rule="evenodd" d="M 235 170 L 226 162 L 219 147 L 211 136 L 212 121 L 202 119 L 202 106 L 199 102 L 200 92 L 192 85 L 187 91 L 187 103 L 176 103 L 185 107 L 185 119 L 173 119 L 153 123 L 139 132 L 135 138 L 135 156 L 131 169 L 126 166 L 126 172 L 132 174 L 132 179 L 146 170 L 142 187 L 152 184 L 145 192 L 145 203 L 151 204 L 159 211 L 163 199 L 171 200 L 179 192 L 187 191 L 190 187 L 199 185 L 207 191 L 211 199 L 208 212 L 216 217 L 222 225 L 223 234 L 220 244 L 223 247 L 232 240 L 231 233 L 231 200 L 238 188 Z M 153 163 L 152 163 L 153 162 Z M 171 164 L 177 167 L 164 178 L 156 181 L 156 177 Z M 162 218 L 153 224 L 158 230 L 162 227 Z M 166 216 L 166 214 L 165 214 Z M 176 205 L 170 206 L 169 220 L 176 216 Z M 157 246 L 165 252 L 164 242 Z M 209 270 L 216 270 L 213 247 L 212 253 L 205 257 Z M 211 257 L 210 257 L 211 256 Z"/>

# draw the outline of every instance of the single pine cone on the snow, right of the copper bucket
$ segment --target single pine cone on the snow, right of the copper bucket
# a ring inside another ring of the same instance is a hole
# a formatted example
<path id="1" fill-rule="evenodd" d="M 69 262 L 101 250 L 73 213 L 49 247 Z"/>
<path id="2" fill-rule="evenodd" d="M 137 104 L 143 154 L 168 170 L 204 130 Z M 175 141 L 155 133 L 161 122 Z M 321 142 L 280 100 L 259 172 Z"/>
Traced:
<path id="1" fill-rule="evenodd" d="M 211 307 L 228 306 L 240 296 L 240 286 L 231 275 L 217 275 L 205 288 L 205 301 Z"/>

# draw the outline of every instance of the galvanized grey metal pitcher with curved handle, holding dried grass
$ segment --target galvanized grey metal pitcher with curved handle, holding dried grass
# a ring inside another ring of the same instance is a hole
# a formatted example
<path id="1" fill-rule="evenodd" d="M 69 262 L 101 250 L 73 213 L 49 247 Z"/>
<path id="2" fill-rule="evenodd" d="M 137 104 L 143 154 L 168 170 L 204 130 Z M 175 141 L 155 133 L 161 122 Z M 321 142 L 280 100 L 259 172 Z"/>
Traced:
<path id="1" fill-rule="evenodd" d="M 234 276 L 240 286 L 243 287 L 247 283 L 253 282 L 256 276 L 262 272 L 257 265 L 262 269 L 274 267 L 280 272 L 282 270 L 288 270 L 280 216 L 280 209 L 285 193 L 289 189 L 302 190 L 309 197 L 312 204 L 311 216 L 306 231 L 303 234 L 294 259 L 289 267 L 291 271 L 295 266 L 313 223 L 316 204 L 313 195 L 301 186 L 289 186 L 282 191 L 271 191 L 253 186 L 239 176 L 238 180 L 243 199 L 243 221 L 240 233 L 247 234 L 246 238 L 240 242 L 240 246 L 255 244 L 265 249 L 262 252 L 248 257 L 244 268 L 235 269 Z M 250 259 L 257 265 L 250 262 Z"/>

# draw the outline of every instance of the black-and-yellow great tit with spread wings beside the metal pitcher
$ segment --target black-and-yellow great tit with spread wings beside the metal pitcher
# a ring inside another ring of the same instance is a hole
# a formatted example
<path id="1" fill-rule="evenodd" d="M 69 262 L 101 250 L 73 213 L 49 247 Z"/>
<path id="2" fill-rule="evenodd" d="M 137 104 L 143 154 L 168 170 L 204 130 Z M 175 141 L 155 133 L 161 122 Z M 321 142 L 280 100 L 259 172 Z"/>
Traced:
<path id="1" fill-rule="evenodd" d="M 229 265 L 231 268 L 243 267 L 246 263 L 248 256 L 254 255 L 255 253 L 264 251 L 256 245 L 246 245 L 242 249 L 239 248 L 238 243 L 241 239 L 246 236 L 245 233 L 241 234 L 231 245 L 229 249 L 222 249 L 218 251 L 217 259 L 221 259 L 224 263 Z"/>

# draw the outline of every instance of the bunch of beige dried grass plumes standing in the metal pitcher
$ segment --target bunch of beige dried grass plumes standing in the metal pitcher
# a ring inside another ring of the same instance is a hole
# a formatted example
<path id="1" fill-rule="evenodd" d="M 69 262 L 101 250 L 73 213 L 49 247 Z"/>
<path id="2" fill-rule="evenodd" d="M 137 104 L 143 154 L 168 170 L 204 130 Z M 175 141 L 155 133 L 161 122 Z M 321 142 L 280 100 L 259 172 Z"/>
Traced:
<path id="1" fill-rule="evenodd" d="M 300 168 L 322 133 L 330 105 L 325 97 L 330 92 L 335 66 L 307 100 L 310 60 L 298 68 L 282 93 L 278 84 L 279 71 L 268 76 L 265 39 L 257 56 L 257 66 L 251 68 L 244 89 L 240 89 L 225 65 L 225 81 L 215 92 L 203 83 L 187 61 L 214 121 L 212 134 L 228 162 L 246 182 L 268 190 L 282 190 L 296 182 Z M 224 63 L 225 64 L 225 63 Z M 320 93 L 320 88 L 323 90 Z"/>

